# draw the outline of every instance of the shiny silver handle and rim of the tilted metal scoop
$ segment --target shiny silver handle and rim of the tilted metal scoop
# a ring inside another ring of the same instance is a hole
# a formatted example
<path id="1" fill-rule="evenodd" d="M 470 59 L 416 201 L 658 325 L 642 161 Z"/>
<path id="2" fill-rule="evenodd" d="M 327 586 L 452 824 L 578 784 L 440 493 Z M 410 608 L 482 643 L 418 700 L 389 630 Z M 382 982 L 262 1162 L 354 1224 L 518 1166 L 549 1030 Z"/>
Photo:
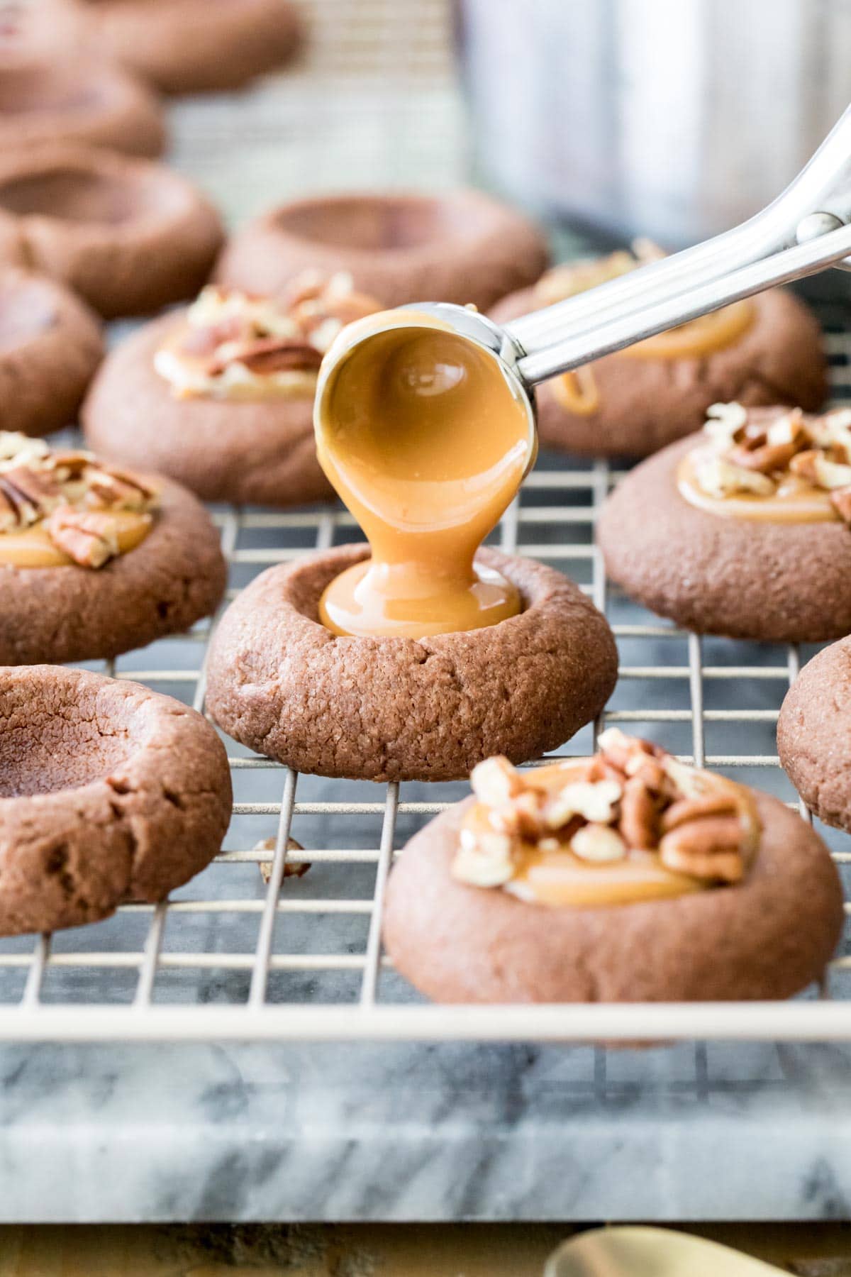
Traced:
<path id="1" fill-rule="evenodd" d="M 731 231 L 652 262 L 565 301 L 500 327 L 464 306 L 420 303 L 388 312 L 393 326 L 418 312 L 491 351 L 503 373 L 529 395 L 538 382 L 776 283 L 828 266 L 851 268 L 851 107 L 778 198 Z M 417 324 L 412 317 L 412 328 Z M 380 333 L 332 347 L 333 370 Z M 318 411 L 330 366 L 323 368 Z"/>

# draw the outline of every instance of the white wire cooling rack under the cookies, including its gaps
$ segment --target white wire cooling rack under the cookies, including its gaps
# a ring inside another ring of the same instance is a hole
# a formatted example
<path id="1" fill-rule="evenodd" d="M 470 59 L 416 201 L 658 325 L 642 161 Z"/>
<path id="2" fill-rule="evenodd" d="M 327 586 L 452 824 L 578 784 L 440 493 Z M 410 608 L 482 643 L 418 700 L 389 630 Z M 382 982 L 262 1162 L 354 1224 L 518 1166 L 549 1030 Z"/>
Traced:
<path id="1" fill-rule="evenodd" d="M 851 401 L 851 335 L 828 331 L 828 342 L 834 400 Z M 494 540 L 565 571 L 605 609 L 620 678 L 603 722 L 795 802 L 774 725 L 810 651 L 700 640 L 607 589 L 592 527 L 616 475 L 601 462 L 564 466 L 544 458 Z M 343 511 L 323 507 L 216 518 L 228 600 L 265 567 L 356 535 Z M 211 632 L 204 623 L 108 672 L 203 709 Z M 561 752 L 588 753 L 593 736 L 586 728 Z M 0 941 L 0 1039 L 851 1039 L 845 949 L 820 990 L 782 1004 L 429 1005 L 381 953 L 384 886 L 407 838 L 466 787 L 300 776 L 227 746 L 235 805 L 225 850 L 157 907 L 128 904 L 96 926 Z M 824 833 L 841 868 L 851 865 L 845 835 Z M 286 850 L 291 836 L 304 852 Z M 258 848 L 268 839 L 273 850 Z M 293 859 L 309 863 L 306 873 L 292 872 Z"/>

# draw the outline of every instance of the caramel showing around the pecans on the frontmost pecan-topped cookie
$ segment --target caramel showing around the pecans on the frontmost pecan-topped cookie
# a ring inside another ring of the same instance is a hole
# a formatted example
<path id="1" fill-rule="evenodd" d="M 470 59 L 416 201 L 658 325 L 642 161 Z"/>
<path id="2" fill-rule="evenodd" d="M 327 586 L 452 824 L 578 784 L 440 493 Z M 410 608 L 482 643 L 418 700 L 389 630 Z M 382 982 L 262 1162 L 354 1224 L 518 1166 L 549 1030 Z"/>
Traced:
<path id="1" fill-rule="evenodd" d="M 551 764 L 531 773 L 523 773 L 529 788 L 556 792 L 563 785 L 582 780 L 587 760 L 569 764 Z M 732 780 L 716 776 L 718 787 L 736 790 L 740 807 L 757 821 L 755 808 L 746 789 Z M 464 829 L 491 830 L 489 811 L 484 803 L 470 808 L 463 821 Z M 505 891 L 522 900 L 554 908 L 595 908 L 600 905 L 635 904 L 644 900 L 667 900 L 694 891 L 706 891 L 711 882 L 677 873 L 662 865 L 655 852 L 630 849 L 618 861 L 591 863 L 575 856 L 569 840 L 552 835 L 558 849 L 542 850 L 533 843 L 521 842 L 515 849 L 515 870 Z"/>

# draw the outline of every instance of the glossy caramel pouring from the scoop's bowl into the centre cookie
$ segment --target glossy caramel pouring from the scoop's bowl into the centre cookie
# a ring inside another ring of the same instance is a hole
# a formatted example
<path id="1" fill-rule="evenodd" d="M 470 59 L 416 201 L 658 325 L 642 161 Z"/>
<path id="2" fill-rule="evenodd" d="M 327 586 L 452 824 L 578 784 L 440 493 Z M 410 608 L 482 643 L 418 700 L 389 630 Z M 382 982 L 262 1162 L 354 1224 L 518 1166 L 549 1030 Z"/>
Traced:
<path id="1" fill-rule="evenodd" d="M 484 347 L 416 312 L 350 324 L 325 359 L 319 464 L 371 558 L 330 582 L 322 622 L 421 638 L 517 616 L 517 587 L 473 555 L 535 460 L 519 389 Z"/>

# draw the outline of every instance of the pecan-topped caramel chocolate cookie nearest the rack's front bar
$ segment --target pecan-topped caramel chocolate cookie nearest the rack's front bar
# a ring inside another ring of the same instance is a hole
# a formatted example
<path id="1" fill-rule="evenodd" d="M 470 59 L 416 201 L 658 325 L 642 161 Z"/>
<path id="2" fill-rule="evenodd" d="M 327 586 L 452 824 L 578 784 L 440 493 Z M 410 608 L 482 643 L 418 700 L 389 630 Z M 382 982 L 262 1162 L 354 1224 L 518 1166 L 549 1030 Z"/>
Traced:
<path id="1" fill-rule="evenodd" d="M 787 997 L 836 948 L 831 856 L 768 794 L 616 730 L 593 759 L 491 759 L 472 784 L 387 890 L 387 950 L 438 1001 Z"/>

